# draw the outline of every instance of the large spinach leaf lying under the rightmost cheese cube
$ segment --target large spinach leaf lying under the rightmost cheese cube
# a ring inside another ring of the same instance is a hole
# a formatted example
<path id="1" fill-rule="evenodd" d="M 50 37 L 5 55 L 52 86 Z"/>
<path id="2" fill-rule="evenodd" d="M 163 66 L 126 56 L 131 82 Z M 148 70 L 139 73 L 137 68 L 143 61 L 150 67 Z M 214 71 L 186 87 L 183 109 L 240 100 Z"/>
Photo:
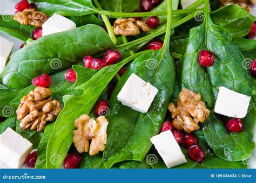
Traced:
<path id="1" fill-rule="evenodd" d="M 241 66 L 244 57 L 231 43 L 231 36 L 227 30 L 212 23 L 207 3 L 208 1 L 205 5 L 204 23 L 190 30 L 186 53 L 179 63 L 178 79 L 180 79 L 181 87 L 201 94 L 202 100 L 212 108 L 214 98 L 218 95 L 218 87 L 224 86 L 238 93 L 252 96 L 252 83 L 249 72 Z M 207 68 L 201 67 L 198 63 L 198 54 L 203 49 L 210 50 L 214 54 L 214 64 Z M 216 118 L 207 119 L 203 127 L 204 134 L 218 157 L 238 161 L 246 153 L 252 152 L 254 120 L 250 116 L 249 113 L 244 119 L 247 127 L 243 132 L 235 133 L 235 135 L 225 132 L 223 125 L 222 127 L 220 124 L 217 125 L 219 122 Z M 230 140 L 226 140 L 227 138 Z M 247 145 L 241 145 L 239 139 L 245 140 Z M 230 153 L 226 152 L 227 149 L 230 149 Z"/>

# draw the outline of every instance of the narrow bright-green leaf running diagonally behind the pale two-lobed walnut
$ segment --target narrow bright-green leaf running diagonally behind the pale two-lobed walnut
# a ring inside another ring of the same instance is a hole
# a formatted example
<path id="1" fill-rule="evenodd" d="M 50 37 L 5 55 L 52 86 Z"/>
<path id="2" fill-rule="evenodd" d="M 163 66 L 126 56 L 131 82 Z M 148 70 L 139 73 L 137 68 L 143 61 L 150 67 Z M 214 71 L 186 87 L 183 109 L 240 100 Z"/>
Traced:
<path id="1" fill-rule="evenodd" d="M 76 89 L 83 89 L 84 93 L 82 95 L 63 96 L 64 108 L 55 122 L 54 130 L 47 145 L 46 167 L 60 167 L 72 143 L 73 122 L 75 119 L 82 114 L 89 114 L 98 97 L 102 94 L 119 69 L 127 64 L 127 62 L 137 58 L 143 53 L 144 52 L 139 52 L 116 65 L 100 69 L 100 71 L 93 75 L 89 81 L 76 87 Z M 60 158 L 60 161 L 58 163 L 52 163 L 52 158 L 55 158 L 56 156 Z"/>

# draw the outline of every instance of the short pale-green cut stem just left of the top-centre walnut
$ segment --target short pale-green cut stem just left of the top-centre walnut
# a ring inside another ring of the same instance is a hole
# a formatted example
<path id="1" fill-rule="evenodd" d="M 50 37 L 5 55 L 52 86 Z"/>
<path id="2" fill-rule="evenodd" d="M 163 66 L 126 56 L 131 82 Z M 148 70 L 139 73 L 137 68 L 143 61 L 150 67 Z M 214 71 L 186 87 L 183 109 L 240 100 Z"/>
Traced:
<path id="1" fill-rule="evenodd" d="M 93 0 L 93 2 L 95 3 L 95 5 L 97 6 L 98 9 L 102 10 L 102 7 L 100 6 L 99 2 L 97 0 Z M 100 11 L 99 12 L 100 16 L 102 17 L 102 20 L 106 26 L 106 29 L 107 29 L 107 33 L 109 33 L 109 37 L 110 39 L 112 40 L 112 42 L 114 44 L 117 43 L 117 38 L 116 38 L 116 35 L 114 34 L 114 31 L 112 29 L 112 26 L 109 22 L 109 17 L 107 17 L 105 11 Z"/>

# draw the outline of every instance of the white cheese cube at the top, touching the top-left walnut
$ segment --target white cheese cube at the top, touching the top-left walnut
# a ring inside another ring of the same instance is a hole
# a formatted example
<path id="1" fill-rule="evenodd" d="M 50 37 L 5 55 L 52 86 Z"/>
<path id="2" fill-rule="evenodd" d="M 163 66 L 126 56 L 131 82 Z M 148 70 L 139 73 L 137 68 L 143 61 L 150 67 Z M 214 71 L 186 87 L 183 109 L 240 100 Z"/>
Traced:
<path id="1" fill-rule="evenodd" d="M 76 29 L 76 24 L 61 15 L 54 14 L 42 25 L 42 36 L 53 34 L 56 32 L 68 31 Z"/>

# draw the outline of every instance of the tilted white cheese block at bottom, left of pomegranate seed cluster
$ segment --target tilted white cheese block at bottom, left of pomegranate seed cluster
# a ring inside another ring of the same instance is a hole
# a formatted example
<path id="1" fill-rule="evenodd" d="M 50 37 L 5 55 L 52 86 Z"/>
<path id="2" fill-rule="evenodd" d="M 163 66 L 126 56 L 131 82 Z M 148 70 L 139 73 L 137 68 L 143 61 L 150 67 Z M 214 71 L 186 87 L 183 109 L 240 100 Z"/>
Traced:
<path id="1" fill-rule="evenodd" d="M 159 135 L 153 136 L 150 140 L 168 168 L 187 163 L 171 130 L 161 132 Z"/>

